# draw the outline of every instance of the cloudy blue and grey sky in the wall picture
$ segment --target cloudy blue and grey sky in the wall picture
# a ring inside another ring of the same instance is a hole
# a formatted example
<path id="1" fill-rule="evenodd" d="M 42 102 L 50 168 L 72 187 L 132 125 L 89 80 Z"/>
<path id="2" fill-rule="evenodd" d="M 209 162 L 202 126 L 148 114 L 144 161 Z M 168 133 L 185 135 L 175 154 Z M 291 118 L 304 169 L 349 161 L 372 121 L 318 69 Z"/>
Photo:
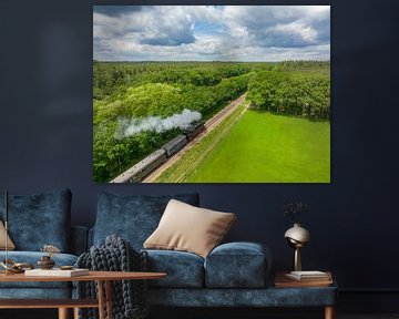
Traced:
<path id="1" fill-rule="evenodd" d="M 94 6 L 100 61 L 330 59 L 329 6 Z"/>

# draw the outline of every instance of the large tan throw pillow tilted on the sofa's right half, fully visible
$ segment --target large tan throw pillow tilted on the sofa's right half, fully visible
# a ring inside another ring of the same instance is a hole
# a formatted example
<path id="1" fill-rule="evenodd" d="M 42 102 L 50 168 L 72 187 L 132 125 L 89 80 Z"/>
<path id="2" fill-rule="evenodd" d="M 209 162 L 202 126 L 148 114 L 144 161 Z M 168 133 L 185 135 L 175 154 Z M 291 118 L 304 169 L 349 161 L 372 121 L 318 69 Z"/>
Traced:
<path id="1" fill-rule="evenodd" d="M 158 227 L 144 248 L 184 250 L 206 257 L 235 222 L 233 213 L 221 213 L 171 199 Z"/>

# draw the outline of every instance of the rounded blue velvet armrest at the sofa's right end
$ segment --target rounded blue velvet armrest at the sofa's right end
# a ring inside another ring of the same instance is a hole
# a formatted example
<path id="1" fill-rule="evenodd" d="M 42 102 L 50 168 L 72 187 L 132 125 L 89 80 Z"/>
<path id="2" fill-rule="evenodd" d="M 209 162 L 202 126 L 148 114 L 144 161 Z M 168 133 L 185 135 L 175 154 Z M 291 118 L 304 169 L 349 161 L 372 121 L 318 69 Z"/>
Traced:
<path id="1" fill-rule="evenodd" d="M 272 268 L 270 249 L 259 243 L 236 241 L 217 246 L 205 259 L 208 288 L 262 288 Z"/>

